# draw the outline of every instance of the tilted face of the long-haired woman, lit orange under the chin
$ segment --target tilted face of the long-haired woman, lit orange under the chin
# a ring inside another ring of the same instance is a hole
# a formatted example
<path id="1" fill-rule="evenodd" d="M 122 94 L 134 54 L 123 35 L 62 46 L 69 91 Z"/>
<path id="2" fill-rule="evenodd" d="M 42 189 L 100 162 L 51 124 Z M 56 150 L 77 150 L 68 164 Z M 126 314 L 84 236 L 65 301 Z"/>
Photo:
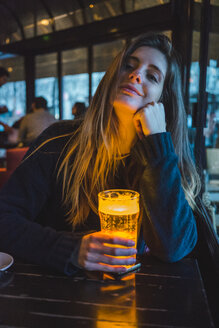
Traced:
<path id="1" fill-rule="evenodd" d="M 120 75 L 114 101 L 116 114 L 134 114 L 148 103 L 158 102 L 163 91 L 167 61 L 157 49 L 140 47 L 128 58 Z"/>

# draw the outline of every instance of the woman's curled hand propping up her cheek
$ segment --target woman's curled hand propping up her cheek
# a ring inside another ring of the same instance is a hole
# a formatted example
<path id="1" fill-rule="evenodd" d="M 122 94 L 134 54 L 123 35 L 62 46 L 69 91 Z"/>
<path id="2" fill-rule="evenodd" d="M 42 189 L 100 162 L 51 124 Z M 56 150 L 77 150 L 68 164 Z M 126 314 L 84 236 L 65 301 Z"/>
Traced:
<path id="1" fill-rule="evenodd" d="M 134 114 L 133 121 L 140 139 L 150 134 L 166 132 L 165 111 L 162 103 L 147 104 Z"/>

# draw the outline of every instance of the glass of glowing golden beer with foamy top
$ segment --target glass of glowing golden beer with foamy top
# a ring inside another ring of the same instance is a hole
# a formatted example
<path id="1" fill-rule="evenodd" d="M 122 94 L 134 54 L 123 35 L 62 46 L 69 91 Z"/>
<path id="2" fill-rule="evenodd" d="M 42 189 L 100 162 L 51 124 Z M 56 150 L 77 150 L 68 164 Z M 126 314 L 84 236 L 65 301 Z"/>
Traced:
<path id="1" fill-rule="evenodd" d="M 131 239 L 135 242 L 135 248 L 137 247 L 138 192 L 125 189 L 102 191 L 98 194 L 98 211 L 101 231 Z M 125 246 L 113 245 L 113 247 Z"/>

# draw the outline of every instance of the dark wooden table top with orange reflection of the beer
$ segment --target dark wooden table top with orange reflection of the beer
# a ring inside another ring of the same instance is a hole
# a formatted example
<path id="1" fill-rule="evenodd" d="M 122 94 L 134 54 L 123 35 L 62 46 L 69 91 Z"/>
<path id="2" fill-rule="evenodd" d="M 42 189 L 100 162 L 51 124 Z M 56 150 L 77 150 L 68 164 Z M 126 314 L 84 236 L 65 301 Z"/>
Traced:
<path id="1" fill-rule="evenodd" d="M 0 278 L 0 327 L 214 327 L 196 260 L 140 261 L 124 280 L 15 261 Z"/>

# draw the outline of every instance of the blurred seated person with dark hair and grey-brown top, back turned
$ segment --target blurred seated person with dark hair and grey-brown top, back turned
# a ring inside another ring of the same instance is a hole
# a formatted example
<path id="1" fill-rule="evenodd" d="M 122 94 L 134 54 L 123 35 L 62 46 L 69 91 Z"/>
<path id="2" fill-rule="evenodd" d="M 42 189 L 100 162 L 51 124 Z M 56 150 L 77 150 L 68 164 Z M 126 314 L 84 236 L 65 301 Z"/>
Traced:
<path id="1" fill-rule="evenodd" d="M 29 146 L 32 141 L 55 121 L 55 117 L 47 110 L 47 100 L 43 97 L 34 98 L 32 113 L 27 114 L 21 122 L 18 134 L 18 146 Z"/>

